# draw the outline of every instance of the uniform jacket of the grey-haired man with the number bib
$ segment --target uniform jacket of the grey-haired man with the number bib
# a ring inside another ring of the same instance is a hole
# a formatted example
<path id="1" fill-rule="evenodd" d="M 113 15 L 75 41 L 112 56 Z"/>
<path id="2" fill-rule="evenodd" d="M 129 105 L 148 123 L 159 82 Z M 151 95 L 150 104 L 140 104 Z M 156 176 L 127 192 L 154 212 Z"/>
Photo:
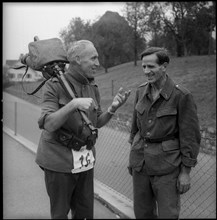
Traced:
<path id="1" fill-rule="evenodd" d="M 80 72 L 81 70 L 78 67 L 70 67 L 69 70 L 66 71 L 65 77 L 68 79 L 69 84 L 73 85 L 78 97 L 91 97 L 94 99 L 97 108 L 88 111 L 87 116 L 96 127 L 97 118 L 102 113 L 98 87 L 93 80 L 89 81 L 87 78 L 82 77 Z M 49 114 L 57 111 L 70 101 L 71 98 L 67 96 L 58 78 L 54 77 L 47 81 L 44 88 L 42 113 L 38 120 L 39 128 L 44 128 L 44 120 Z M 64 129 L 68 133 L 75 131 L 77 129 L 75 117 L 78 117 L 78 112 L 76 111 L 70 115 L 69 119 L 60 129 Z M 36 155 L 36 163 L 49 170 L 71 172 L 73 169 L 72 151 L 57 139 L 60 129 L 54 132 L 42 130 Z M 64 140 L 65 135 L 61 135 L 61 139 Z M 92 150 L 95 156 L 95 147 L 92 148 Z"/>

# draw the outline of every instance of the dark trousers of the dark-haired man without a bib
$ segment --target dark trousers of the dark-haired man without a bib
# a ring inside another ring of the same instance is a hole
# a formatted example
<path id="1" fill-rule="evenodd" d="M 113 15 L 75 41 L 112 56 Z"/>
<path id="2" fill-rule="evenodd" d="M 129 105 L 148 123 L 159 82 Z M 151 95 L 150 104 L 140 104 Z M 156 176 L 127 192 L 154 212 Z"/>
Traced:
<path id="1" fill-rule="evenodd" d="M 145 169 L 133 170 L 134 213 L 137 219 L 178 219 L 180 194 L 177 191 L 179 168 L 162 176 L 149 176 Z"/>

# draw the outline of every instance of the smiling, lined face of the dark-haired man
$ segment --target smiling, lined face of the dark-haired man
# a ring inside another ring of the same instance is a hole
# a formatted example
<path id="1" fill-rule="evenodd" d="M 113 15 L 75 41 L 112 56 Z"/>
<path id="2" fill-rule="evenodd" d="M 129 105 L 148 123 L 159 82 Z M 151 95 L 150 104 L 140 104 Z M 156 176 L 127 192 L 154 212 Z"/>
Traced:
<path id="1" fill-rule="evenodd" d="M 157 60 L 156 54 L 147 55 L 142 58 L 143 72 L 149 83 L 159 82 L 166 74 L 167 63 L 159 65 Z"/>

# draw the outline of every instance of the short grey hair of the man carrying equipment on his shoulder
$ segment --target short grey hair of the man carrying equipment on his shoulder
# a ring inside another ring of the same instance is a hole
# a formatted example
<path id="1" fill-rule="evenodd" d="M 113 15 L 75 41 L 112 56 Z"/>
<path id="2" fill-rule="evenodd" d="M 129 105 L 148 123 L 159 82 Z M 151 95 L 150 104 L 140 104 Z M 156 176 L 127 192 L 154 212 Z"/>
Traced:
<path id="1" fill-rule="evenodd" d="M 70 44 L 67 51 L 68 61 L 69 62 L 75 61 L 76 56 L 81 56 L 87 45 L 93 45 L 93 43 L 89 40 L 79 40 L 79 41 L 74 41 L 72 44 Z"/>

